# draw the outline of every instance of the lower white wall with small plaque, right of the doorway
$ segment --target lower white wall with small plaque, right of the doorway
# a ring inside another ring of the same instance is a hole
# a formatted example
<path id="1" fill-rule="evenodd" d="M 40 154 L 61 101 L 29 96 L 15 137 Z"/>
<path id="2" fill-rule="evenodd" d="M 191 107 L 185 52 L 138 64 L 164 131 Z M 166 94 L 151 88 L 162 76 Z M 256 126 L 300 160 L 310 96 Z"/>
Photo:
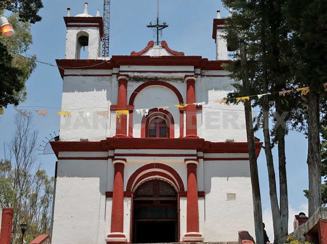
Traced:
<path id="1" fill-rule="evenodd" d="M 237 241 L 239 230 L 254 235 L 249 161 L 204 161 L 204 188 L 205 242 Z"/>

